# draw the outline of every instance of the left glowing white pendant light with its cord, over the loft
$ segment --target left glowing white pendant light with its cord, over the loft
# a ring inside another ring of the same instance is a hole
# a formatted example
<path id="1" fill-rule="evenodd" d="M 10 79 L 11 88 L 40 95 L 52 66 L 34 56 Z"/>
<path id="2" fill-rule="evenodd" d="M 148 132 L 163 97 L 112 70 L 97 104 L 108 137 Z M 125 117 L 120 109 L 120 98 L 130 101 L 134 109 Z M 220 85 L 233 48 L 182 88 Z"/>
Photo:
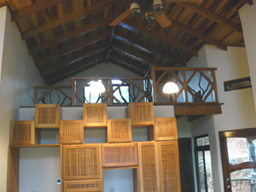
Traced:
<path id="1" fill-rule="evenodd" d="M 96 31 L 96 1 L 95 1 L 95 37 L 96 37 L 96 41 L 97 41 L 97 31 Z M 95 62 L 96 62 L 96 65 L 97 65 L 97 42 L 95 44 Z M 102 81 L 98 81 L 97 79 L 96 80 L 93 80 L 91 83 L 90 83 L 90 87 L 89 87 L 89 90 L 90 90 L 90 93 L 94 93 L 94 94 L 100 94 L 100 93 L 103 93 L 105 92 L 105 86 L 104 84 L 102 84 Z"/>

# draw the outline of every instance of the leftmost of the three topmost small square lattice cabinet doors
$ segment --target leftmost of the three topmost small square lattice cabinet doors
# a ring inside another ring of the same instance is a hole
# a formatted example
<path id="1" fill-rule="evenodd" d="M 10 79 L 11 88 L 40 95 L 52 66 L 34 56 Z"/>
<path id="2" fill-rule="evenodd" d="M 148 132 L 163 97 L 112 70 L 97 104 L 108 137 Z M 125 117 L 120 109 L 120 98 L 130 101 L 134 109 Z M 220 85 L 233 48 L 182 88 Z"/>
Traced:
<path id="1" fill-rule="evenodd" d="M 59 104 L 36 104 L 36 128 L 59 128 L 60 119 L 61 112 Z"/>

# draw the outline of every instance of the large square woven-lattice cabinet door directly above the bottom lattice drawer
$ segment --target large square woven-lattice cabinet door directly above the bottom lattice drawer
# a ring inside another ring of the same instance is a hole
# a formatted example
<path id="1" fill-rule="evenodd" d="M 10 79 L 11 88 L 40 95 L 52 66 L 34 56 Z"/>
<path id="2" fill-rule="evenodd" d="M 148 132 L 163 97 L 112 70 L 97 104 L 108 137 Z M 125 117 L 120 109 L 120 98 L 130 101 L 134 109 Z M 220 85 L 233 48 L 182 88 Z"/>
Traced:
<path id="1" fill-rule="evenodd" d="M 64 145 L 64 180 L 102 178 L 100 145 Z"/>

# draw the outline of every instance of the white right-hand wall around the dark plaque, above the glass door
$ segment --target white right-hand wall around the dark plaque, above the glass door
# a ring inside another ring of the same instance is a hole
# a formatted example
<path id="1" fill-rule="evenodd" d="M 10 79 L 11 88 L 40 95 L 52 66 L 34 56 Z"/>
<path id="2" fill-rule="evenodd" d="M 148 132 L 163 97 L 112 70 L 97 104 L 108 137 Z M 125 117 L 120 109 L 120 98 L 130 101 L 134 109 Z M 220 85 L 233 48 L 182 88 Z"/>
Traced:
<path id="1" fill-rule="evenodd" d="M 218 55 L 218 56 L 217 56 Z M 224 91 L 224 81 L 250 76 L 245 48 L 229 47 L 227 51 L 204 46 L 198 58 L 189 61 L 189 67 L 217 67 L 216 79 L 218 102 L 223 102 L 222 114 L 193 121 L 192 136 L 209 134 L 212 153 L 212 172 L 219 178 L 213 179 L 214 191 L 224 191 L 218 131 L 255 127 L 255 110 L 252 88 Z"/>

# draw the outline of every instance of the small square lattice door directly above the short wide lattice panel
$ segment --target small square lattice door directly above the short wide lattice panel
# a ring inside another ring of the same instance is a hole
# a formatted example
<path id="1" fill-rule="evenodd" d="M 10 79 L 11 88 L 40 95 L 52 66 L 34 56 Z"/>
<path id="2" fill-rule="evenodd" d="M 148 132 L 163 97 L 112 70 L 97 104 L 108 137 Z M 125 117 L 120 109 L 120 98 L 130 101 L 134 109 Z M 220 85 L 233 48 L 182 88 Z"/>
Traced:
<path id="1" fill-rule="evenodd" d="M 131 142 L 131 119 L 108 119 L 108 143 Z"/>

